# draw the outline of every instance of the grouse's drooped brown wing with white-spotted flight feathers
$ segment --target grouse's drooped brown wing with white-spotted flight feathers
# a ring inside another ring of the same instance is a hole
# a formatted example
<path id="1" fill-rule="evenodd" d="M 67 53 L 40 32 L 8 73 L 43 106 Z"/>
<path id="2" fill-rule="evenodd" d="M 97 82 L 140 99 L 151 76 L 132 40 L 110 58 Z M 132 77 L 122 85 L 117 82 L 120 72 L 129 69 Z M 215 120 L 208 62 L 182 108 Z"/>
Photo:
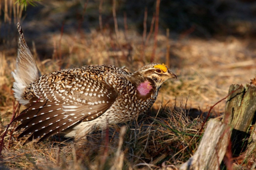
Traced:
<path id="1" fill-rule="evenodd" d="M 117 93 L 104 79 L 92 75 L 83 78 L 74 74 L 61 78 L 48 75 L 38 80 L 40 84 L 33 86 L 37 97 L 32 98 L 28 109 L 16 118 L 21 120 L 16 130 L 25 128 L 19 137 L 30 135 L 26 143 L 37 138 L 42 141 L 77 122 L 101 116 L 115 102 Z"/>

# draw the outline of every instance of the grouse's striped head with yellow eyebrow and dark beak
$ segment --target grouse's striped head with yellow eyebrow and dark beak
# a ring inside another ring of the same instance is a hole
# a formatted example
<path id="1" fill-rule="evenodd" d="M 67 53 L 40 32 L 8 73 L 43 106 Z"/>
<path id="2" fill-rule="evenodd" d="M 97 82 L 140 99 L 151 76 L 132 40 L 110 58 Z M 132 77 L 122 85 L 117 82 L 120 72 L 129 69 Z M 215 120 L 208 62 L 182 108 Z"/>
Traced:
<path id="1" fill-rule="evenodd" d="M 167 80 L 171 78 L 177 79 L 177 76 L 169 70 L 169 68 L 160 63 L 151 63 L 145 65 L 137 71 L 142 77 L 153 80 L 155 86 L 160 88 L 160 86 Z"/>

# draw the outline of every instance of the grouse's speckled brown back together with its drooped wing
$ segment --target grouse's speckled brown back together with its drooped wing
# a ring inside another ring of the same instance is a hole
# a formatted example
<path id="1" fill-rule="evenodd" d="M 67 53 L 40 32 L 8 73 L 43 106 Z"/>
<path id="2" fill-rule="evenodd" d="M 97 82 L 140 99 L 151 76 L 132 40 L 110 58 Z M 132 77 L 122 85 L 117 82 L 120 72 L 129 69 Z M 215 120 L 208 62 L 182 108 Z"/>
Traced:
<path id="1" fill-rule="evenodd" d="M 97 119 L 122 93 L 120 80 L 130 83 L 128 75 L 112 65 L 90 65 L 39 77 L 23 93 L 28 109 L 17 118 L 22 121 L 17 130 L 25 128 L 20 137 L 31 135 L 31 141 L 44 136 L 43 140 L 78 122 Z"/>

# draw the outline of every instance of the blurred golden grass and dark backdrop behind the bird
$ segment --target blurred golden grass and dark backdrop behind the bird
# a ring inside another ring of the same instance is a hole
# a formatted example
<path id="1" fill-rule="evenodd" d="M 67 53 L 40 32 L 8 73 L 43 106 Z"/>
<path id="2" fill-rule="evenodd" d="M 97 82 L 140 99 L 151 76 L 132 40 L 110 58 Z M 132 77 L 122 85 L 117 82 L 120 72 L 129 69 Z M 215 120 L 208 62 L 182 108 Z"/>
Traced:
<path id="1" fill-rule="evenodd" d="M 163 86 L 157 105 L 208 110 L 229 85 L 248 83 L 256 73 L 255 0 L 27 0 L 26 9 L 0 0 L 0 9 L 4 110 L 13 100 L 17 22 L 43 74 L 92 64 L 135 71 L 166 63 L 178 80 Z"/>

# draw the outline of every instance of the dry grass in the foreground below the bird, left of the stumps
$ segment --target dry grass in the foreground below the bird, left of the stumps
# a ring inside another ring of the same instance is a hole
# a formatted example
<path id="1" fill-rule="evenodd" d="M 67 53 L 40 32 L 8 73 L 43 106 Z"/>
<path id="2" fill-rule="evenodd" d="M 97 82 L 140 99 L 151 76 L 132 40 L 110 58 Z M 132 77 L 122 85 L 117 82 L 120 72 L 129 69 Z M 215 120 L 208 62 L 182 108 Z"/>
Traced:
<path id="1" fill-rule="evenodd" d="M 22 145 L 18 133 L 5 136 L 2 163 L 13 169 L 160 169 L 179 165 L 195 151 L 202 120 L 190 120 L 182 110 L 167 110 L 165 117 L 144 115 L 126 125 L 113 125 L 88 136 L 85 145 L 51 137 Z M 121 128 L 120 128 L 121 127 Z M 10 139 L 11 138 L 11 139 Z"/>

